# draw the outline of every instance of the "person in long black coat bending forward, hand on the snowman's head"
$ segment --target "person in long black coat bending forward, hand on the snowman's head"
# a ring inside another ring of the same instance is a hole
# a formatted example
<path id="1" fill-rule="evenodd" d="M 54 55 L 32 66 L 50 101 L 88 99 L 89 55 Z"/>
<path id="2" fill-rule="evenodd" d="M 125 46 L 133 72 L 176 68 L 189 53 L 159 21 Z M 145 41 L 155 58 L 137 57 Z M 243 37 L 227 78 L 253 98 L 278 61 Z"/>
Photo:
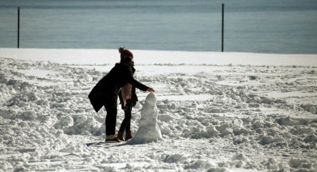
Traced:
<path id="1" fill-rule="evenodd" d="M 135 71 L 133 66 L 133 59 L 130 56 L 125 56 L 120 63 L 116 63 L 110 72 L 94 86 L 88 95 L 90 103 L 96 112 L 102 106 L 106 108 L 106 142 L 121 141 L 118 137 L 115 137 L 117 100 L 120 88 L 129 83 L 142 91 L 154 92 L 153 88 L 145 86 L 133 78 Z"/>

